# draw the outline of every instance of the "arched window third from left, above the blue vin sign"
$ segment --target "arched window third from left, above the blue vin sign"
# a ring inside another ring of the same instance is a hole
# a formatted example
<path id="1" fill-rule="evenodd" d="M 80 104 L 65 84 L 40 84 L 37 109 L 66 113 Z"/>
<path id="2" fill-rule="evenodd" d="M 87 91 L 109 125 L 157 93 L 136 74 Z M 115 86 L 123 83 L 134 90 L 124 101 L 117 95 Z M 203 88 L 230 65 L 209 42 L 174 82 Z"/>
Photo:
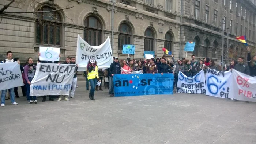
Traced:
<path id="1" fill-rule="evenodd" d="M 123 50 L 123 45 L 131 44 L 132 32 L 128 24 L 122 23 L 118 30 L 118 50 Z"/>

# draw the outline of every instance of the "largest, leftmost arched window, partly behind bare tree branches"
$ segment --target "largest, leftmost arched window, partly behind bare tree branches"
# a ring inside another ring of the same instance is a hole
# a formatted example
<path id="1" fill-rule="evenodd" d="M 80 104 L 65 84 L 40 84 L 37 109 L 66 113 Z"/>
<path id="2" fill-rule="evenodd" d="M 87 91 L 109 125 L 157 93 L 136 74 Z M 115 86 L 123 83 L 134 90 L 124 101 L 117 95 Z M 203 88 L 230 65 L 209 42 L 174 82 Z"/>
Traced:
<path id="1" fill-rule="evenodd" d="M 38 11 L 52 11 L 53 7 L 44 6 Z M 42 45 L 61 45 L 61 16 L 58 11 L 38 12 L 36 22 L 36 43 Z"/>

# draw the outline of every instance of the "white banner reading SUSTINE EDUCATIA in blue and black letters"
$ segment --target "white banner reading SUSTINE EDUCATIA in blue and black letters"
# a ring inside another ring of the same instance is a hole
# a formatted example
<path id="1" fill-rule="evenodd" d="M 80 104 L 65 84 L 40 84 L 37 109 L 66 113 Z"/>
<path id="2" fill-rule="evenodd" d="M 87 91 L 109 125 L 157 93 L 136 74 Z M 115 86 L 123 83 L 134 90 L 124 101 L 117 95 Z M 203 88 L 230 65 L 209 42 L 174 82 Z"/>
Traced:
<path id="1" fill-rule="evenodd" d="M 178 75 L 177 93 L 205 94 L 205 77 L 204 71 L 201 70 L 193 77 L 187 77 L 181 71 Z"/>

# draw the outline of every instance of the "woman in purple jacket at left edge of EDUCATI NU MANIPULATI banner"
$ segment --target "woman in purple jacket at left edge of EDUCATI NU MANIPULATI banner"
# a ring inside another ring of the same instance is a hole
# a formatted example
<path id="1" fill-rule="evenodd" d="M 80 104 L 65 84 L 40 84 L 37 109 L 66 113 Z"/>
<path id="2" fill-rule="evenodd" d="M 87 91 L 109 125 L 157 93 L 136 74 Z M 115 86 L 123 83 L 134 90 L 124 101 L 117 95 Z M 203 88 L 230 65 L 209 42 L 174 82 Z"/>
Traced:
<path id="1" fill-rule="evenodd" d="M 29 93 L 30 93 L 30 84 L 31 84 L 31 81 L 33 80 L 33 78 L 35 76 L 35 70 L 36 70 L 36 66 L 33 65 L 33 59 L 28 58 L 27 59 L 27 65 L 24 66 L 24 74 L 25 74 L 25 78 L 26 78 L 27 100 L 29 101 L 30 104 L 33 103 L 33 101 L 31 100 L 32 96 L 29 95 Z M 37 104 L 37 97 L 33 96 L 33 99 L 34 99 L 34 103 Z"/>

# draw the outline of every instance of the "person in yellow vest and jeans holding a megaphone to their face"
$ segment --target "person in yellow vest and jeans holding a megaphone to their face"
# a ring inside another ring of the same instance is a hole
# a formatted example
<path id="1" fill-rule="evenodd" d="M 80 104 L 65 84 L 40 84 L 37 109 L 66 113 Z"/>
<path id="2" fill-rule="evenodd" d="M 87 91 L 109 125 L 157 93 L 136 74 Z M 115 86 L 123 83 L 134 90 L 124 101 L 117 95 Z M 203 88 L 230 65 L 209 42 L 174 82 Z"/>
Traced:
<path id="1" fill-rule="evenodd" d="M 99 79 L 97 62 L 94 58 L 91 58 L 87 64 L 87 78 L 91 85 L 89 98 L 90 100 L 95 100 L 94 99 L 95 86 L 96 86 L 97 80 L 100 82 L 101 80 Z"/>

